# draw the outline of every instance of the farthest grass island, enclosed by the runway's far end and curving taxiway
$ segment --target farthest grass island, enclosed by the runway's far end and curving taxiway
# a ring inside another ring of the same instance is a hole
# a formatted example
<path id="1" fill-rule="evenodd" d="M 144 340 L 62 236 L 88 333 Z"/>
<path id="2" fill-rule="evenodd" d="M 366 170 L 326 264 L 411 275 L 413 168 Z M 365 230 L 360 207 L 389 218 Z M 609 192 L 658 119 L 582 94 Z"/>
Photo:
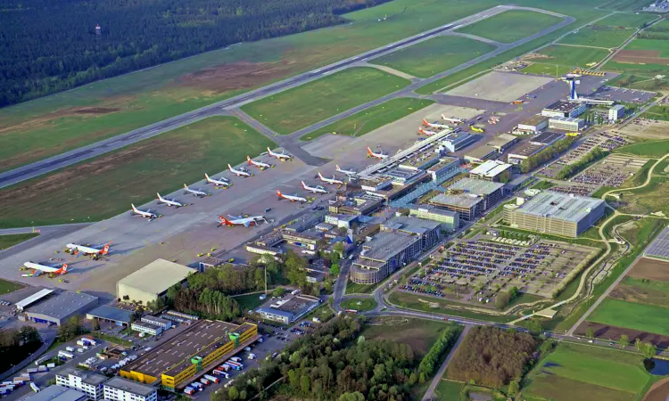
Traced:
<path id="1" fill-rule="evenodd" d="M 561 18 L 542 12 L 513 10 L 475 22 L 457 31 L 497 42 L 513 43 L 534 35 L 541 29 L 549 28 L 561 20 Z"/>

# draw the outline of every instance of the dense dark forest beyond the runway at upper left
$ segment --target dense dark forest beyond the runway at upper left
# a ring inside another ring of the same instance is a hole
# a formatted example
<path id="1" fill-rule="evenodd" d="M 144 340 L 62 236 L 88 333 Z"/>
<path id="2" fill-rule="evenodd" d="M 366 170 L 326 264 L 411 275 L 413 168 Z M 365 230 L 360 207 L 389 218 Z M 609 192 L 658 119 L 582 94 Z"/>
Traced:
<path id="1" fill-rule="evenodd" d="M 5 0 L 0 107 L 227 45 L 340 24 L 341 14 L 386 1 Z"/>

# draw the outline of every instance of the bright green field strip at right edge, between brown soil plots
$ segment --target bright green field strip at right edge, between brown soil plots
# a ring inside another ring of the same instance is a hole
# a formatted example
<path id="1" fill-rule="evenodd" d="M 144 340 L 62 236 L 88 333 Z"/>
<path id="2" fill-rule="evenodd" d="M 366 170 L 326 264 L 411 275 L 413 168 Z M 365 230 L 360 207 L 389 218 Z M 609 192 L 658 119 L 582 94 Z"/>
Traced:
<path id="1" fill-rule="evenodd" d="M 669 308 L 604 299 L 588 316 L 595 323 L 610 324 L 656 334 L 669 335 Z"/>

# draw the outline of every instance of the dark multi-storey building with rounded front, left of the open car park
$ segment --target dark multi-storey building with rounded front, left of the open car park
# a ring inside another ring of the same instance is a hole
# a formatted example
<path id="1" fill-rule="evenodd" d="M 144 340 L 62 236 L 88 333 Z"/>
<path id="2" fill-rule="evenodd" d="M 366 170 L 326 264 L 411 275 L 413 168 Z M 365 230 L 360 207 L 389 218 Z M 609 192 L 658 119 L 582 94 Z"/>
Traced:
<path id="1" fill-rule="evenodd" d="M 423 250 L 440 240 L 441 224 L 415 217 L 398 217 L 362 244 L 362 252 L 351 266 L 351 281 L 373 284 L 406 266 Z"/>

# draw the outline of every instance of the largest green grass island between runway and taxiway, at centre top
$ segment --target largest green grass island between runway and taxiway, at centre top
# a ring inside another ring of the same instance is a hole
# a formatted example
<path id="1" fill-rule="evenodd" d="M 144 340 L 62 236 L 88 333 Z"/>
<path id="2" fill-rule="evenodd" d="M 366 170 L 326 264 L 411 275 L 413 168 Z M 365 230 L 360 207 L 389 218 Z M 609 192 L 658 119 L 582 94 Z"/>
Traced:
<path id="1" fill-rule="evenodd" d="M 408 79 L 375 68 L 357 67 L 245 104 L 242 110 L 288 135 L 409 84 Z"/>

